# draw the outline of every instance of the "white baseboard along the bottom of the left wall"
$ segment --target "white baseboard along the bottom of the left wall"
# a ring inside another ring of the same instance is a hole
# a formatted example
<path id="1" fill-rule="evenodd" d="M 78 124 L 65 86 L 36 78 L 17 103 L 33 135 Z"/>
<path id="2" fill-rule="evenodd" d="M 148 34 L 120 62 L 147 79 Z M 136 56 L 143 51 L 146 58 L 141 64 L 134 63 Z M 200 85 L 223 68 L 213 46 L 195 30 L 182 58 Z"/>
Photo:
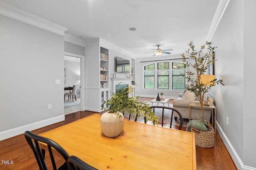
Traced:
<path id="1" fill-rule="evenodd" d="M 45 119 L 45 120 L 38 121 L 35 123 L 30 123 L 28 125 L 9 129 L 7 131 L 2 131 L 2 132 L 0 132 L 0 141 L 10 138 L 10 137 L 14 137 L 16 135 L 20 135 L 20 134 L 24 133 L 25 131 L 32 131 L 32 130 L 39 129 L 41 127 L 45 127 L 48 125 L 52 125 L 54 123 L 58 123 L 58 122 L 64 121 L 64 120 L 65 120 L 65 115 L 60 115 L 60 116 L 52 117 L 50 119 Z"/>

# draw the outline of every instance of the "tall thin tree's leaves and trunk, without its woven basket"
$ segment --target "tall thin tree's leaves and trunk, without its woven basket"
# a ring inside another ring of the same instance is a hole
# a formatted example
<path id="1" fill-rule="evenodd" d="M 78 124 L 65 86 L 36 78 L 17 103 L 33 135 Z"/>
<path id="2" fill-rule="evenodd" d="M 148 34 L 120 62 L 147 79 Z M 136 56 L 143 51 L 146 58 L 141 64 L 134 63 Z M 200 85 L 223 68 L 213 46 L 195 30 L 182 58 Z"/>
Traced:
<path id="1" fill-rule="evenodd" d="M 223 80 L 217 80 L 214 78 L 213 80 L 209 80 L 208 83 L 202 83 L 202 75 L 205 75 L 209 66 L 213 65 L 216 61 L 214 56 L 214 50 L 217 47 L 213 47 L 211 42 L 206 41 L 204 45 L 201 46 L 199 50 L 195 49 L 195 45 L 193 41 L 188 43 L 188 51 L 181 54 L 183 58 L 183 62 L 186 68 L 186 79 L 188 84 L 186 84 L 186 89 L 194 92 L 195 96 L 199 99 L 200 107 L 201 107 L 201 120 L 200 123 L 204 124 L 207 128 L 207 123 L 204 121 L 204 109 L 203 109 L 203 101 L 205 94 L 209 92 L 214 86 L 214 84 L 223 84 Z M 207 100 L 207 99 L 205 99 Z M 196 127 L 194 127 L 196 128 Z M 188 129 L 187 129 L 188 130 Z M 199 130 L 199 129 L 198 129 Z M 200 129 L 201 130 L 201 129 Z M 189 130 L 188 130 L 189 131 Z"/>

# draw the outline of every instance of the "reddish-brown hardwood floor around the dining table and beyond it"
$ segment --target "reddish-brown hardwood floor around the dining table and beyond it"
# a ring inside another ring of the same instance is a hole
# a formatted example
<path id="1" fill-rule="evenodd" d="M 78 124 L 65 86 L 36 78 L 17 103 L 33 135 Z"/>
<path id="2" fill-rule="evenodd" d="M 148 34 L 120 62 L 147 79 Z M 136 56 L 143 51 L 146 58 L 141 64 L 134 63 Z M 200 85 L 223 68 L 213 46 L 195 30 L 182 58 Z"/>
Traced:
<path id="1" fill-rule="evenodd" d="M 140 98 L 140 101 L 149 101 L 151 98 Z M 169 102 L 172 104 L 172 100 Z M 62 125 L 66 125 L 88 115 L 95 114 L 91 111 L 78 111 L 72 114 L 65 115 L 65 121 L 55 123 L 40 129 L 32 131 L 40 134 L 51 129 L 55 129 Z M 96 113 L 102 114 L 102 113 Z M 127 118 L 126 118 L 127 119 Z M 174 127 L 174 128 L 178 128 Z M 182 128 L 186 130 L 186 128 Z M 18 135 L 3 141 L 0 141 L 0 169 L 1 170 L 34 170 L 38 169 L 36 159 L 30 147 L 28 146 L 24 135 Z M 46 156 L 46 162 L 50 162 Z M 3 162 L 5 161 L 5 163 Z M 9 161 L 9 162 L 7 162 Z M 13 162 L 13 163 L 12 163 Z M 57 164 L 61 165 L 63 160 L 57 159 Z M 214 148 L 196 147 L 196 166 L 197 170 L 236 170 L 228 150 L 226 149 L 220 135 L 216 134 Z M 167 168 L 167 167 L 166 167 Z M 168 168 L 167 168 L 168 169 Z"/>

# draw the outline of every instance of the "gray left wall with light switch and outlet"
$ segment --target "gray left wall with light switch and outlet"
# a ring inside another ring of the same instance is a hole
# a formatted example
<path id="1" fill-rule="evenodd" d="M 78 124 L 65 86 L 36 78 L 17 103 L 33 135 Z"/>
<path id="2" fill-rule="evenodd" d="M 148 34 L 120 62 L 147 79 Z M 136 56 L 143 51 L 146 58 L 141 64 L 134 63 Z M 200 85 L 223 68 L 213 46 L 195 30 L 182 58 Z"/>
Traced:
<path id="1" fill-rule="evenodd" d="M 0 23 L 0 135 L 64 115 L 64 36 L 2 15 Z"/>

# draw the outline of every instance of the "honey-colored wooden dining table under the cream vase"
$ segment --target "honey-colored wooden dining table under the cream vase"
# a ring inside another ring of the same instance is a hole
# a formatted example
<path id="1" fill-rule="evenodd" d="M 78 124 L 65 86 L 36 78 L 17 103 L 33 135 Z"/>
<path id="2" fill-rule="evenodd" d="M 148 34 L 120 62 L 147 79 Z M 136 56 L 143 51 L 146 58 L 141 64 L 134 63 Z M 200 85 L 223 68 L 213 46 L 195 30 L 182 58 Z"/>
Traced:
<path id="1" fill-rule="evenodd" d="M 94 114 L 40 134 L 104 170 L 196 170 L 194 133 L 124 120 L 124 133 L 102 135 Z"/>

